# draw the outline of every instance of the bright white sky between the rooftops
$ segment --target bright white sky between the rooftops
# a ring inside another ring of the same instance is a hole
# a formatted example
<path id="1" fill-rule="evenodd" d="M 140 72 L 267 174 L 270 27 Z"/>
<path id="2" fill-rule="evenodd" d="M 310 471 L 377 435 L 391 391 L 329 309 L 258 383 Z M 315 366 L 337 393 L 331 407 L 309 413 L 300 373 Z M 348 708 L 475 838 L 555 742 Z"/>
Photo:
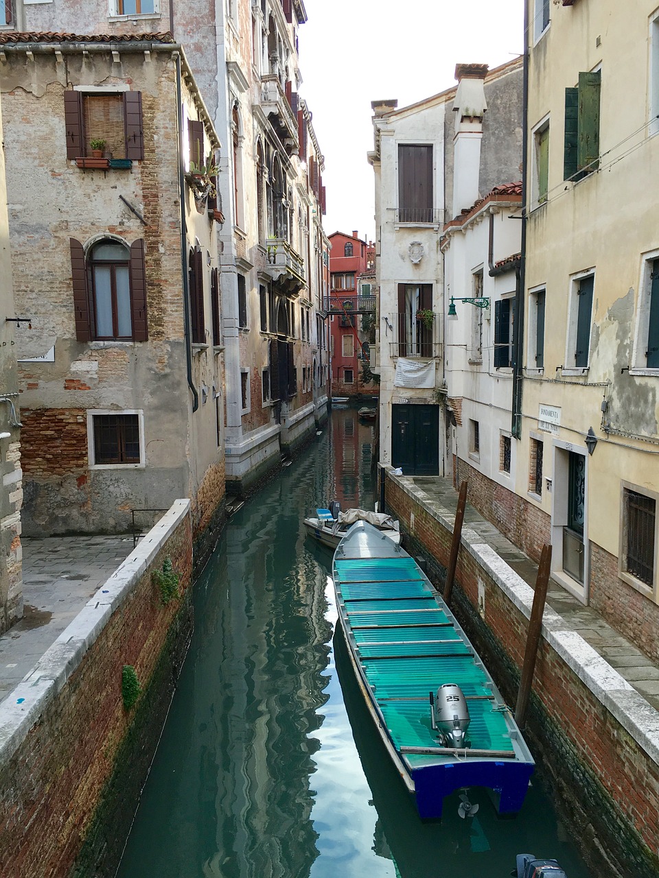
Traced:
<path id="1" fill-rule="evenodd" d="M 325 169 L 326 234 L 373 240 L 371 101 L 398 107 L 450 89 L 457 63 L 497 67 L 523 48 L 524 0 L 304 0 L 301 97 Z"/>

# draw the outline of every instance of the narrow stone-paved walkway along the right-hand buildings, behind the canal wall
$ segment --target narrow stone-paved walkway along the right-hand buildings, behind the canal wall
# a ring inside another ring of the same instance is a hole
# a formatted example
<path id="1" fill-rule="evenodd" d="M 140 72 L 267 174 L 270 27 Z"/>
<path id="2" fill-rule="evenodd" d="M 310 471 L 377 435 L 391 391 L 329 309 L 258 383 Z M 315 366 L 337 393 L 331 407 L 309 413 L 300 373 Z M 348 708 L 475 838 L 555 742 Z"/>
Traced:
<path id="1" fill-rule="evenodd" d="M 431 504 L 434 500 L 438 506 L 455 514 L 458 493 L 453 489 L 451 479 L 413 476 L 410 481 L 426 494 Z M 464 523 L 482 536 L 483 543 L 488 543 L 525 582 L 532 588 L 535 587 L 538 565 L 506 539 L 493 524 L 479 515 L 468 502 Z M 583 603 L 552 579 L 549 580 L 547 603 L 655 710 L 659 710 L 659 666 L 606 623 L 594 609 L 584 607 Z"/>

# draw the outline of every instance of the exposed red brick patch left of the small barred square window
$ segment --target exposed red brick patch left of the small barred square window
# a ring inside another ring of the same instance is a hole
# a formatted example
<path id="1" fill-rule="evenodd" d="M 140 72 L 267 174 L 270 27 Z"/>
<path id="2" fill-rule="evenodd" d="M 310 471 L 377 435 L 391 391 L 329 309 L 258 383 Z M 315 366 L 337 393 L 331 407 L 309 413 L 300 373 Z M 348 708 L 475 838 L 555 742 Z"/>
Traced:
<path id="1" fill-rule="evenodd" d="M 40 408 L 21 412 L 23 472 L 50 479 L 87 470 L 87 416 L 83 408 Z"/>

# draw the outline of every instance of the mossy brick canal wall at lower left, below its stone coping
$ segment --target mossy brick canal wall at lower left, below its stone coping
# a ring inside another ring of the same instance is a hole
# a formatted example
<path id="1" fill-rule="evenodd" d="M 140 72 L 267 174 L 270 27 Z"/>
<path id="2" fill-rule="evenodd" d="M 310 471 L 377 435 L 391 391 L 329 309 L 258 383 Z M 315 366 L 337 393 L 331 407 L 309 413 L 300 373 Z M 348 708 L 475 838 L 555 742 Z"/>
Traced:
<path id="1" fill-rule="evenodd" d="M 139 548 L 139 547 L 138 547 Z M 163 607 L 152 571 L 170 557 L 181 597 Z M 185 515 L 38 722 L 0 765 L 0 874 L 113 875 L 192 631 Z M 142 693 L 127 711 L 121 671 Z"/>

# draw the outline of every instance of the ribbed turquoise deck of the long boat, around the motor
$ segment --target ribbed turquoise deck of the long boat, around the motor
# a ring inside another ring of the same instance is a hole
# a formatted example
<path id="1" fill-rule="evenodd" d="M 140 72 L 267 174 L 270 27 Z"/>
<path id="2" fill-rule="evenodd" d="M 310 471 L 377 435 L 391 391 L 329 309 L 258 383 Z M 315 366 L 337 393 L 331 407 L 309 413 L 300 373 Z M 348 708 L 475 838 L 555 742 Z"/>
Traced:
<path id="1" fill-rule="evenodd" d="M 346 633 L 357 647 L 366 683 L 396 750 L 439 746 L 431 728 L 429 694 L 443 683 L 458 683 L 471 717 L 471 747 L 492 751 L 495 759 L 504 754 L 515 759 L 507 708 L 414 559 L 337 558 L 335 576 Z M 429 758 L 405 753 L 412 768 Z M 431 759 L 437 761 L 438 754 Z M 446 755 L 445 760 L 453 762 L 455 756 Z"/>

